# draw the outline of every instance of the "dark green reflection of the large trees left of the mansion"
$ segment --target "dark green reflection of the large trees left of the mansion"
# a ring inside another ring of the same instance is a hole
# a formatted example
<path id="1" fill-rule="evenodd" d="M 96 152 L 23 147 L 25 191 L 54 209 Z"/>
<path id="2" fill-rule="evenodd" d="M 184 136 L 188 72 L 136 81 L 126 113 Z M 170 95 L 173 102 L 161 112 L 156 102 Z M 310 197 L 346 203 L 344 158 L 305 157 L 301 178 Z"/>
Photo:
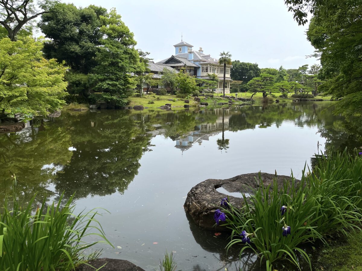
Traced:
<path id="1" fill-rule="evenodd" d="M 76 197 L 123 193 L 138 174 L 139 159 L 150 137 L 143 119 L 133 120 L 123 111 L 67 116 L 74 148 L 71 163 L 55 180 L 55 188 Z M 64 123 L 65 125 L 65 123 Z"/>

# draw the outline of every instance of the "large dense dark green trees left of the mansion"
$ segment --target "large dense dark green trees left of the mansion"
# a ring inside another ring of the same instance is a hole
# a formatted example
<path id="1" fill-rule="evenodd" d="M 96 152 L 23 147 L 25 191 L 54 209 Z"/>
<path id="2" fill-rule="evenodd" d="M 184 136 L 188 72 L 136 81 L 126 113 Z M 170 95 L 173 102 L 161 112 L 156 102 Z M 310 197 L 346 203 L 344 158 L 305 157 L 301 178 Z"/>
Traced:
<path id="1" fill-rule="evenodd" d="M 135 49 L 133 33 L 115 9 L 58 3 L 42 15 L 39 27 L 50 41 L 47 57 L 65 61 L 72 70 L 68 101 L 106 102 L 124 106 L 146 70 Z"/>

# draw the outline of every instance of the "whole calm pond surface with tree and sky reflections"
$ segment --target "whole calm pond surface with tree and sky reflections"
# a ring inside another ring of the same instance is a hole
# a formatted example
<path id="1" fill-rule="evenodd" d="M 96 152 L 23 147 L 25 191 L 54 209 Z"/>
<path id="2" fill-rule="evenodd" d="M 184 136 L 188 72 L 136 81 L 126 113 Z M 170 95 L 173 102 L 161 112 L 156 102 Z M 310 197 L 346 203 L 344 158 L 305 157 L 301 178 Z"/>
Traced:
<path id="1" fill-rule="evenodd" d="M 39 120 L 0 135 L 0 188 L 10 173 L 21 200 L 75 193 L 76 211 L 102 207 L 115 246 L 102 257 L 146 270 L 174 251 L 182 270 L 260 270 L 253 253 L 226 253 L 226 235 L 199 229 L 183 209 L 191 187 L 207 178 L 275 170 L 301 176 L 327 147 L 362 145 L 361 119 L 333 116 L 331 103 L 278 104 L 210 111 L 101 111 Z M 359 130 L 358 130 L 359 129 Z M 157 244 L 153 244 L 157 242 Z M 118 247 L 118 248 L 117 248 Z M 255 263 L 254 263 L 255 262 Z"/>

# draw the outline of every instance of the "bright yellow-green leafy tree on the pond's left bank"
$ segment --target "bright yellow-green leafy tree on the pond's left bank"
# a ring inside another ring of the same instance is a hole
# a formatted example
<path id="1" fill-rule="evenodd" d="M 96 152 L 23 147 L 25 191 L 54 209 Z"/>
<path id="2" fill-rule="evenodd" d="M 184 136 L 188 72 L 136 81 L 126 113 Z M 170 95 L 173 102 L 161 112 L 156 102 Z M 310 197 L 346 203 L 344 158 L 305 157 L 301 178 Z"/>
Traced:
<path id="1" fill-rule="evenodd" d="M 30 36 L 16 41 L 0 39 L 0 110 L 9 113 L 40 113 L 64 104 L 66 67 L 42 56 L 43 41 Z"/>

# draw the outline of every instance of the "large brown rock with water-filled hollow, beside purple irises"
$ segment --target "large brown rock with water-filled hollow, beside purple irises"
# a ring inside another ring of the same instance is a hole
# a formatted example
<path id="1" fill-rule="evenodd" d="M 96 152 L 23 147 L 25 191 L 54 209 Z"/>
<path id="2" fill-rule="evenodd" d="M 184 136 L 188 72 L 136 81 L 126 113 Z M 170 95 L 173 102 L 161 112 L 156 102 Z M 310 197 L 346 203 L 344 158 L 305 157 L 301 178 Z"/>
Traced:
<path id="1" fill-rule="evenodd" d="M 283 180 L 291 180 L 290 176 L 285 175 L 269 173 L 260 173 L 260 175 L 265 185 L 271 184 L 274 178 L 278 182 L 278 187 L 282 187 Z M 241 208 L 244 204 L 241 193 L 245 193 L 246 196 L 253 193 L 253 189 L 256 189 L 260 185 L 259 183 L 258 172 L 242 174 L 225 180 L 208 179 L 200 182 L 191 188 L 187 194 L 184 204 L 185 211 L 191 215 L 195 223 L 201 228 L 215 229 L 214 212 L 220 206 L 221 199 L 228 196 L 228 194 L 222 194 L 216 189 L 221 187 L 223 190 L 230 192 L 230 203 L 236 208 Z M 240 197 L 233 197 L 232 194 L 235 192 L 241 192 Z M 216 226 L 216 229 L 219 231 L 228 230 L 226 227 L 220 226 Z"/>

